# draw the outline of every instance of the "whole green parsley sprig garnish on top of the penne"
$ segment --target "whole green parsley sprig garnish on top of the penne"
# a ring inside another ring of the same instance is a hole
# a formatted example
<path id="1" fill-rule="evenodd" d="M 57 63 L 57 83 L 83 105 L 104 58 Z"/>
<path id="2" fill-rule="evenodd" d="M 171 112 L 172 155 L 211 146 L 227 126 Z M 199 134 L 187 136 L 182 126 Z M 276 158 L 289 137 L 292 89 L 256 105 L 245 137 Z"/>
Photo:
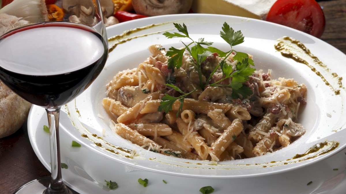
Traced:
<path id="1" fill-rule="evenodd" d="M 226 22 L 222 26 L 222 31 L 220 31 L 220 37 L 224 39 L 229 45 L 230 50 L 227 52 L 221 51 L 215 47 L 212 47 L 211 45 L 213 42 L 205 41 L 204 38 L 199 38 L 198 41 L 194 41 L 190 36 L 188 29 L 186 25 L 183 23 L 183 25 L 178 23 L 173 23 L 174 27 L 180 32 L 164 32 L 163 35 L 167 38 L 188 38 L 192 42 L 189 44 L 183 45 L 185 46 L 183 49 L 177 49 L 174 47 L 169 48 L 169 50 L 166 52 L 166 56 L 170 57 L 168 60 L 168 68 L 172 69 L 179 69 L 183 64 L 183 58 L 185 55 L 185 52 L 187 52 L 191 57 L 194 59 L 195 66 L 198 71 L 199 76 L 199 87 L 195 88 L 193 91 L 189 93 L 184 93 L 180 88 L 172 85 L 172 84 L 166 84 L 167 86 L 170 86 L 174 88 L 174 90 L 178 91 L 181 95 L 178 97 L 170 96 L 169 94 L 165 94 L 161 98 L 161 104 L 158 107 L 158 111 L 164 110 L 165 113 L 168 113 L 172 110 L 172 106 L 176 100 L 180 101 L 180 107 L 178 109 L 177 116 L 180 111 L 182 111 L 184 99 L 196 91 L 198 88 L 204 89 L 205 87 L 209 86 L 225 86 L 232 88 L 232 98 L 247 98 L 252 95 L 252 90 L 247 87 L 244 82 L 249 79 L 249 76 L 252 75 L 252 73 L 256 70 L 252 68 L 251 66 L 254 65 L 254 61 L 249 58 L 248 54 L 244 52 L 237 52 L 233 49 L 233 46 L 239 45 L 240 43 L 244 42 L 244 36 L 241 31 L 235 31 L 233 28 L 231 28 Z M 203 47 L 203 46 L 207 46 Z M 202 79 L 202 67 L 201 64 L 206 58 L 213 53 L 217 52 L 220 57 L 224 57 L 219 64 L 213 69 L 211 74 L 209 75 L 208 79 L 203 82 Z M 233 57 L 234 60 L 237 60 L 236 69 L 234 70 L 231 65 L 228 65 L 226 62 L 226 58 L 231 55 L 232 53 L 236 53 Z M 222 71 L 222 79 L 219 81 L 216 81 L 215 83 L 209 83 L 213 74 L 218 69 L 221 69 Z M 228 85 L 221 84 L 222 81 L 231 78 L 231 83 Z"/>

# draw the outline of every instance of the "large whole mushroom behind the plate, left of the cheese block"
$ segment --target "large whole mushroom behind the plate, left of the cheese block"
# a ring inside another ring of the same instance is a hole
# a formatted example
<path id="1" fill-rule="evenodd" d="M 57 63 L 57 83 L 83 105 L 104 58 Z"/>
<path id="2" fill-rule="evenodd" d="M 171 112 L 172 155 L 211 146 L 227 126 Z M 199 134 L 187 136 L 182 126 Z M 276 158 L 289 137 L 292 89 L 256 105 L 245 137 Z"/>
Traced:
<path id="1" fill-rule="evenodd" d="M 136 13 L 146 16 L 189 12 L 192 0 L 132 0 Z"/>

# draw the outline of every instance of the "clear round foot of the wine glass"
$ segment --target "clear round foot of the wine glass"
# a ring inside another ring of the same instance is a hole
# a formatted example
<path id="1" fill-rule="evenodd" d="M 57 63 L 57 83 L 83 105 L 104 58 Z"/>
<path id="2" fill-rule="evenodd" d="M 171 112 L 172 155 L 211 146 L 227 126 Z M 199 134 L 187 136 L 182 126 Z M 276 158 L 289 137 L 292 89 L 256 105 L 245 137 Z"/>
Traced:
<path id="1" fill-rule="evenodd" d="M 50 176 L 38 178 L 19 187 L 13 194 L 44 194 L 47 187 L 49 186 L 50 181 Z M 73 191 L 71 188 L 68 189 L 69 192 L 67 192 L 66 194 L 79 194 Z"/>

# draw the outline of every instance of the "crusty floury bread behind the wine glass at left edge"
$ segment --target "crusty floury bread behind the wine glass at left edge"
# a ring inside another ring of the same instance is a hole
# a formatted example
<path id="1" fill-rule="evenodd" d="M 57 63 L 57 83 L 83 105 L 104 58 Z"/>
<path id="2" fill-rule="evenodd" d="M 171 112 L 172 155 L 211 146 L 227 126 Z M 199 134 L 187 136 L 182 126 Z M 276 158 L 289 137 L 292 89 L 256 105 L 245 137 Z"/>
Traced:
<path id="1" fill-rule="evenodd" d="M 15 133 L 28 117 L 31 103 L 0 81 L 0 138 Z"/>

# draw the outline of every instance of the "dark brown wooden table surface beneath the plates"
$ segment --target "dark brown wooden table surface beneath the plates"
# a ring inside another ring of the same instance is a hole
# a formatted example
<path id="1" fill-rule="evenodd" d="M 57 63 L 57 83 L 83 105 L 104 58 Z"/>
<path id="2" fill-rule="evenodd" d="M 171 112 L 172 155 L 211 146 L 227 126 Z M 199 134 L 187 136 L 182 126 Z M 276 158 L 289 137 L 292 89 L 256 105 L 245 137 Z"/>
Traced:
<path id="1" fill-rule="evenodd" d="M 346 0 L 320 1 L 319 4 L 326 17 L 321 39 L 346 54 Z M 15 134 L 0 139 L 0 193 L 13 193 L 23 184 L 49 175 L 31 147 L 26 124 Z"/>

